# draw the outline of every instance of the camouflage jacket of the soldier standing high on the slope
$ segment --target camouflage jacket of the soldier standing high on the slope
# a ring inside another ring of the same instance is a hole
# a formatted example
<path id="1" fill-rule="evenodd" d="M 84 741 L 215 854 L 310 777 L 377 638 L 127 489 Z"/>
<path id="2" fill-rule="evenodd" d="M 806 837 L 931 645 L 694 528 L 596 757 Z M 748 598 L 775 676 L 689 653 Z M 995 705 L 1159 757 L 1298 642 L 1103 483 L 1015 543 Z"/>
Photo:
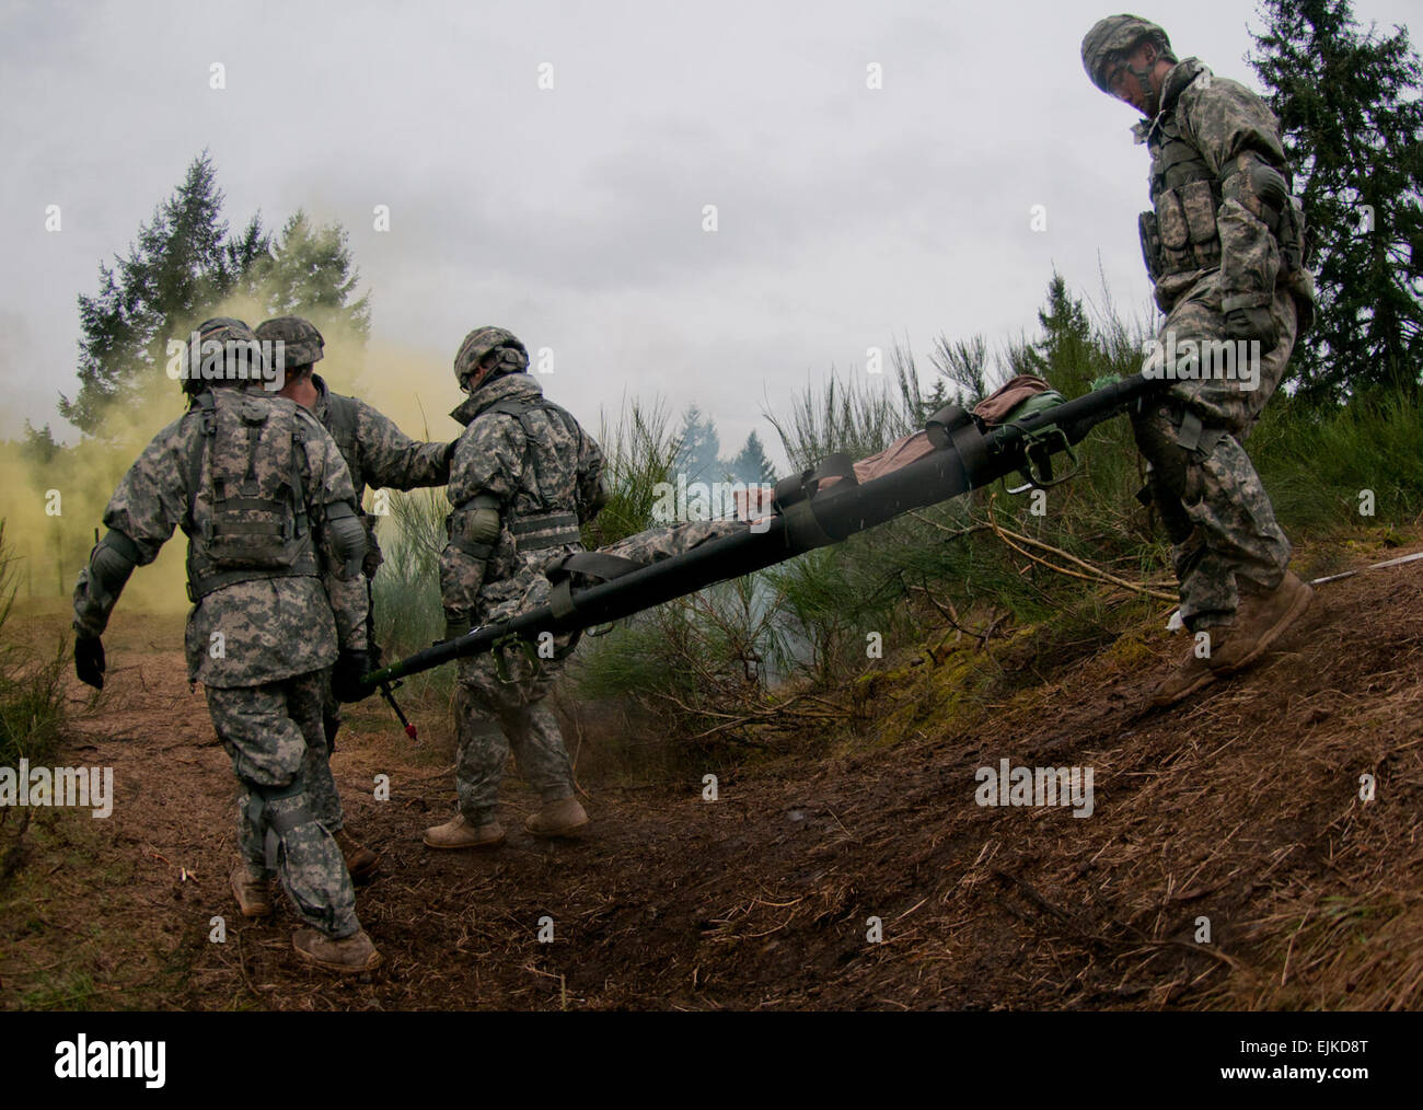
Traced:
<path id="1" fill-rule="evenodd" d="M 1155 118 L 1138 122 L 1133 134 L 1151 152 L 1153 212 L 1141 215 L 1141 239 L 1163 312 L 1214 269 L 1222 312 L 1268 306 L 1276 279 L 1312 305 L 1312 278 L 1302 260 L 1282 259 L 1249 172 L 1264 162 L 1289 179 L 1279 121 L 1265 101 L 1215 77 L 1198 58 L 1185 58 L 1167 74 Z M 1302 212 L 1294 199 L 1286 208 L 1285 223 L 1298 219 L 1291 239 L 1298 242 Z"/>

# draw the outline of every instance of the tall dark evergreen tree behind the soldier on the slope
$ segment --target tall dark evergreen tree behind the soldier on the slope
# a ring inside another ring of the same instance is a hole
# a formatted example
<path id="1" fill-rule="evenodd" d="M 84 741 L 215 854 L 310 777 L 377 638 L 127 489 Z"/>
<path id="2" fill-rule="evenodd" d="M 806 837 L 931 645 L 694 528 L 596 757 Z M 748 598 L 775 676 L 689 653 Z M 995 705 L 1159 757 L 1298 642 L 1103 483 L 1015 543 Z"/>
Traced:
<path id="1" fill-rule="evenodd" d="M 1365 33 L 1348 0 L 1265 0 L 1251 64 L 1272 90 L 1319 248 L 1301 393 L 1419 390 L 1423 364 L 1423 70 L 1407 30 Z"/>

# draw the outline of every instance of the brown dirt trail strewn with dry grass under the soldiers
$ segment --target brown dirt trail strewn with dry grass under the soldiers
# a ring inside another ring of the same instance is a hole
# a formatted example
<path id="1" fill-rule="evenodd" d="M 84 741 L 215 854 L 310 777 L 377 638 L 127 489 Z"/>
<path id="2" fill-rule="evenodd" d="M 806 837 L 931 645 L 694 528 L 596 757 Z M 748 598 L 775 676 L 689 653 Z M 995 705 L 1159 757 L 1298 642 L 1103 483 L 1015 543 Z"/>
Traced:
<path id="1" fill-rule="evenodd" d="M 334 758 L 349 824 L 384 857 L 359 894 L 386 956 L 369 982 L 305 971 L 285 904 L 236 916 L 232 776 L 179 643 L 172 619 L 121 608 L 110 689 L 60 758 L 114 767 L 114 815 L 36 821 L 0 891 L 3 1006 L 1423 1005 L 1423 562 L 1325 586 L 1258 669 L 1174 712 L 1144 707 L 1184 650 L 1154 630 L 952 734 L 926 665 L 884 684 L 841 754 L 723 774 L 716 803 L 700 774 L 585 776 L 581 841 L 527 835 L 511 777 L 509 842 L 488 854 L 420 844 L 451 808 L 448 722 L 423 712 L 413 751 L 371 700 Z M 877 746 L 891 717 L 918 739 Z M 1000 758 L 1090 767 L 1093 814 L 978 805 L 975 773 Z"/>

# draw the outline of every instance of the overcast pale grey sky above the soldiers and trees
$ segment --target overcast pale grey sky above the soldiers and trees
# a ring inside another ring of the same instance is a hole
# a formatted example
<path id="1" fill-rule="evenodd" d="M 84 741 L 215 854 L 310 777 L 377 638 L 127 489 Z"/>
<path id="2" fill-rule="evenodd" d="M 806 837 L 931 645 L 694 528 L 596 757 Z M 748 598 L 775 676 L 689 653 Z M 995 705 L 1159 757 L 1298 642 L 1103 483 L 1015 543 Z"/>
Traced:
<path id="1" fill-rule="evenodd" d="M 1144 309 L 1146 155 L 1079 60 L 1110 10 L 4 3 L 0 437 L 61 427 L 75 296 L 203 148 L 232 225 L 305 206 L 349 231 L 390 349 L 448 364 L 467 330 L 504 324 L 554 350 L 545 386 L 585 420 L 625 396 L 696 401 L 724 453 L 753 428 L 774 448 L 763 407 L 831 367 L 864 373 L 869 347 L 1032 332 L 1054 265 L 1089 296 L 1100 268 Z M 1383 26 L 1413 10 L 1355 4 Z M 1257 87 L 1252 3 L 1141 14 Z M 453 377 L 420 388 L 427 411 L 458 401 Z"/>

